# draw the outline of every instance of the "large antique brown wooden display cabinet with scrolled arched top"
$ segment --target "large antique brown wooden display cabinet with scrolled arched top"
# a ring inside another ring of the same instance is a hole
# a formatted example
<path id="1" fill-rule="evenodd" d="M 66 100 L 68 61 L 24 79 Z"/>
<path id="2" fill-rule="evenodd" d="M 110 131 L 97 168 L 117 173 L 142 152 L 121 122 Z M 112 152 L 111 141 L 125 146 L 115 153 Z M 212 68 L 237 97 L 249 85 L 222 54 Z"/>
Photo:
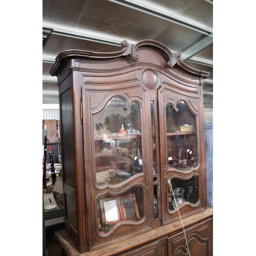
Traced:
<path id="1" fill-rule="evenodd" d="M 153 40 L 57 56 L 67 255 L 212 255 L 208 73 L 180 57 Z"/>

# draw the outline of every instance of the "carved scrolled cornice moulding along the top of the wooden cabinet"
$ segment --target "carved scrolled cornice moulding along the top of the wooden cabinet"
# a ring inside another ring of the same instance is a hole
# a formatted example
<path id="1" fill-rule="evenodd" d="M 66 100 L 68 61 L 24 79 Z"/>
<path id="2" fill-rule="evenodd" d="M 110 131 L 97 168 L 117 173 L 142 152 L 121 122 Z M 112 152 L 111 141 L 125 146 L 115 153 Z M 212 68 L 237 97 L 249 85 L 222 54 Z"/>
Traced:
<path id="1" fill-rule="evenodd" d="M 165 66 L 165 68 L 171 68 L 171 67 L 174 67 L 175 65 L 178 65 L 182 69 L 188 71 L 189 73 L 196 74 L 202 77 L 203 79 L 207 78 L 210 74 L 208 72 L 197 70 L 187 66 L 180 59 L 180 57 L 182 56 L 180 52 L 173 53 L 165 45 L 155 40 L 141 40 L 134 45 L 130 44 L 126 40 L 123 40 L 120 46 L 121 46 L 121 50 L 117 52 L 93 52 L 93 51 L 76 50 L 76 49 L 60 52 L 55 58 L 54 65 L 49 73 L 51 74 L 51 76 L 58 76 L 58 74 L 63 69 L 62 66 L 65 66 L 65 63 L 67 63 L 69 59 L 106 60 L 106 59 L 113 59 L 118 57 L 125 57 L 129 55 L 134 62 L 140 62 L 141 57 L 138 54 L 137 50 L 138 48 L 142 49 L 146 47 L 146 48 L 150 48 L 151 51 L 157 51 L 158 49 L 158 51 L 160 50 L 160 52 L 164 54 L 167 60 L 166 61 L 167 67 Z"/>

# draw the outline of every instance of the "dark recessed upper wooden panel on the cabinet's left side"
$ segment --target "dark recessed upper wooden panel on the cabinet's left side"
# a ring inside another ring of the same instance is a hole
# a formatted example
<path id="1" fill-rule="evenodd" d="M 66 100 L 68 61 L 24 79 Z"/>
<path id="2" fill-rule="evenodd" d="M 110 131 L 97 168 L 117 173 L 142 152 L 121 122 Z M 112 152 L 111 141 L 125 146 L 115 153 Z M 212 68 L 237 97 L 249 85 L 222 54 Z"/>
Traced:
<path id="1" fill-rule="evenodd" d="M 75 161 L 74 161 L 74 138 L 73 138 L 73 108 L 72 91 L 67 90 L 61 97 L 61 143 L 62 143 L 62 167 L 63 179 L 69 186 L 75 188 Z"/>

